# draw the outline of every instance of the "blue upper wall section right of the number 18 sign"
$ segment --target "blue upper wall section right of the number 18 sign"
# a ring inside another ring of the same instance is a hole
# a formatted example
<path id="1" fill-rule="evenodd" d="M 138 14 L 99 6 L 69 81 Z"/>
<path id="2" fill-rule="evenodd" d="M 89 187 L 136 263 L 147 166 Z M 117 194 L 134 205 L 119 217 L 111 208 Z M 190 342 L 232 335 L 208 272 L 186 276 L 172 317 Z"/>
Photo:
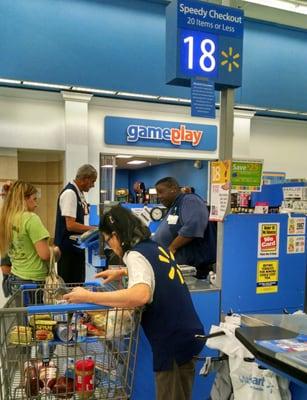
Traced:
<path id="1" fill-rule="evenodd" d="M 307 32 L 247 21 L 241 103 L 306 111 Z"/>

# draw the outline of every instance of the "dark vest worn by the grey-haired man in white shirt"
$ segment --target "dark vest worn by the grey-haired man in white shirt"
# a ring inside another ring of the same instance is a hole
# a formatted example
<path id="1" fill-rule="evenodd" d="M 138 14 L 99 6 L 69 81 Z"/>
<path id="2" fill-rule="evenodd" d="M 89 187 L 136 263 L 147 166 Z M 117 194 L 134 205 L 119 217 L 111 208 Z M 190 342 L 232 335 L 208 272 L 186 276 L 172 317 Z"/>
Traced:
<path id="1" fill-rule="evenodd" d="M 79 235 L 79 232 L 71 232 L 66 229 L 66 222 L 65 222 L 65 217 L 61 215 L 61 209 L 60 209 L 60 196 L 61 194 L 67 190 L 71 189 L 76 193 L 77 196 L 77 216 L 76 216 L 76 222 L 79 222 L 80 224 L 84 224 L 84 211 L 82 207 L 82 202 L 81 198 L 79 196 L 79 193 L 76 189 L 76 187 L 68 183 L 65 188 L 62 190 L 58 197 L 58 203 L 57 203 L 57 214 L 56 214 L 56 224 L 55 224 L 55 235 L 54 235 L 54 244 L 56 246 L 59 246 L 61 250 L 72 250 L 72 251 L 78 251 L 74 246 L 74 242 L 69 239 L 69 236 L 71 235 Z M 79 250 L 80 251 L 80 250 Z"/>

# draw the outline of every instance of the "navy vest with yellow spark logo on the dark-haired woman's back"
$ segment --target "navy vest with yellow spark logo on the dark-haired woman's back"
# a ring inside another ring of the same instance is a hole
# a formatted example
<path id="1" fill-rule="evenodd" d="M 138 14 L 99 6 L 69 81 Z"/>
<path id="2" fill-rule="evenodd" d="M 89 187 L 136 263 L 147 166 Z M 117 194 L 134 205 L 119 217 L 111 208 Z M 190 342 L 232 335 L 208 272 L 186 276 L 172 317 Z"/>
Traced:
<path id="1" fill-rule="evenodd" d="M 143 312 L 142 327 L 153 352 L 154 371 L 169 370 L 176 361 L 185 364 L 198 354 L 203 343 L 194 338 L 204 329 L 190 292 L 173 256 L 152 240 L 137 244 L 155 275 L 153 301 Z"/>

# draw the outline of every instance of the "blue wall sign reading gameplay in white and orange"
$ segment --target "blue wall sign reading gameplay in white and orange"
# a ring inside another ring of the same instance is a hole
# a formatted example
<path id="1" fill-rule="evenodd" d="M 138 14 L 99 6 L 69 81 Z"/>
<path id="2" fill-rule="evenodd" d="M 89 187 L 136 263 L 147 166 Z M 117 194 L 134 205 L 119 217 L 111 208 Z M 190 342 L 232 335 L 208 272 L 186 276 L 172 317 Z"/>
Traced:
<path id="1" fill-rule="evenodd" d="M 106 144 L 216 151 L 217 126 L 105 117 Z"/>

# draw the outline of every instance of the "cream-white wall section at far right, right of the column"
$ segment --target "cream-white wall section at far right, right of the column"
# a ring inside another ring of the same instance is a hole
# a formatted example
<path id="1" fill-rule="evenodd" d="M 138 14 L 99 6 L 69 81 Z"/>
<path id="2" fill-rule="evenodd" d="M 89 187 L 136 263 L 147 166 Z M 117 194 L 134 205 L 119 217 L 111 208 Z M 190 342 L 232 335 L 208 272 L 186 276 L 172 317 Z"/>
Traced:
<path id="1" fill-rule="evenodd" d="M 307 121 L 254 117 L 250 157 L 264 159 L 266 171 L 307 178 Z"/>

